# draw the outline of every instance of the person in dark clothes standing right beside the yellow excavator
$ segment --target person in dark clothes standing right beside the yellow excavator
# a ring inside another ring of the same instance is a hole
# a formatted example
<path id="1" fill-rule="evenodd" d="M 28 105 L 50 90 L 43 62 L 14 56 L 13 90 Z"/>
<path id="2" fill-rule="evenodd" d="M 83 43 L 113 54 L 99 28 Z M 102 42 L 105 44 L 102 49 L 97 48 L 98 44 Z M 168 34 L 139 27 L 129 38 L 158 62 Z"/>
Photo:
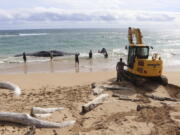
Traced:
<path id="1" fill-rule="evenodd" d="M 122 81 L 123 73 L 124 73 L 124 66 L 127 66 L 123 61 L 122 58 L 120 58 L 120 61 L 116 65 L 116 71 L 117 71 L 117 82 Z"/>

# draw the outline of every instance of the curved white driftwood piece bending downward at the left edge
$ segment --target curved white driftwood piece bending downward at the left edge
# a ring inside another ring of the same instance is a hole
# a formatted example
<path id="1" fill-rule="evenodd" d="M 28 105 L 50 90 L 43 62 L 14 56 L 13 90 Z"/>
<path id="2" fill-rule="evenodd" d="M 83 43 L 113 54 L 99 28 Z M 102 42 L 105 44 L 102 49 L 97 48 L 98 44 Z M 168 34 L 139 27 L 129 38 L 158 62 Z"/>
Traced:
<path id="1" fill-rule="evenodd" d="M 21 89 L 19 88 L 19 86 L 10 82 L 0 82 L 0 88 L 13 90 L 15 95 L 17 96 L 21 94 Z"/>

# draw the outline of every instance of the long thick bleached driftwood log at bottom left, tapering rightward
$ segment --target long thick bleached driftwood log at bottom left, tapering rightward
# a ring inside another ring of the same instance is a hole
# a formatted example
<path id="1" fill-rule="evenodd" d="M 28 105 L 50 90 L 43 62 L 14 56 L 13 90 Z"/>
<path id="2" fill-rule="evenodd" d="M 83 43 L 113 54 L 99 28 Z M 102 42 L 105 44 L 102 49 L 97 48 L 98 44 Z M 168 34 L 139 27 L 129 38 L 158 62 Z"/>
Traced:
<path id="1" fill-rule="evenodd" d="M 74 125 L 75 121 L 65 121 L 62 123 L 49 122 L 31 117 L 25 113 L 0 112 L 0 121 L 13 122 L 26 126 L 35 126 L 39 128 L 63 128 Z"/>

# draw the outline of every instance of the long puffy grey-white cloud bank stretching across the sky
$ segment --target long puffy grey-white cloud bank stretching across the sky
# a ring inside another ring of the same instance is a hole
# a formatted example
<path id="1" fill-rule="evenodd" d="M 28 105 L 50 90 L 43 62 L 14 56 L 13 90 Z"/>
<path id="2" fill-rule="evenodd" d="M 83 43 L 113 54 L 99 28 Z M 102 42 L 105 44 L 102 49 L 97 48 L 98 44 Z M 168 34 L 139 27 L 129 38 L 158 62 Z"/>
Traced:
<path id="1" fill-rule="evenodd" d="M 151 21 L 170 22 L 177 16 L 168 12 L 145 12 L 131 10 L 111 11 L 70 11 L 58 8 L 37 7 L 33 10 L 0 10 L 0 20 L 8 21 Z"/>

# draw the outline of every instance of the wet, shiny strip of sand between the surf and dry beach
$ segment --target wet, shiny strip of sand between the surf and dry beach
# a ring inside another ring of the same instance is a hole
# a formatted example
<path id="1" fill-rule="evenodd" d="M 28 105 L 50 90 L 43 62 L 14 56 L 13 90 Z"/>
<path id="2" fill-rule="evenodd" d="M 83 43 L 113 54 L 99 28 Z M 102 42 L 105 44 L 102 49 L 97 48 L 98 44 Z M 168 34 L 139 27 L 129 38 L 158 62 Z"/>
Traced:
<path id="1" fill-rule="evenodd" d="M 125 60 L 124 60 L 125 61 Z M 34 74 L 34 73 L 78 73 L 78 72 L 101 72 L 115 70 L 118 59 L 80 59 L 79 68 L 75 67 L 74 59 L 55 59 L 44 62 L 3 63 L 0 64 L 0 75 L 11 74 Z M 125 67 L 126 68 L 126 67 Z M 178 72 L 180 65 L 164 65 L 163 72 Z"/>

